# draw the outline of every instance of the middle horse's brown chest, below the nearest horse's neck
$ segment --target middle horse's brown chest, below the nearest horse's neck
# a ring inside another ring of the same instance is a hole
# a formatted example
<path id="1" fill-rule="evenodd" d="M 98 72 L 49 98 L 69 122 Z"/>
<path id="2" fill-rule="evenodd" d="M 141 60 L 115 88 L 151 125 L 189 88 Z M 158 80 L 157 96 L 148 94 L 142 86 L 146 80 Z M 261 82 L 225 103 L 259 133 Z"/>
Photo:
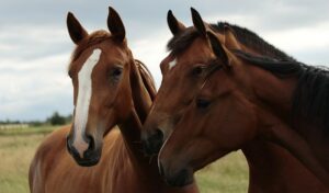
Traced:
<path id="1" fill-rule="evenodd" d="M 242 148 L 249 164 L 249 192 L 308 192 L 324 184 L 286 149 L 259 139 Z"/>

